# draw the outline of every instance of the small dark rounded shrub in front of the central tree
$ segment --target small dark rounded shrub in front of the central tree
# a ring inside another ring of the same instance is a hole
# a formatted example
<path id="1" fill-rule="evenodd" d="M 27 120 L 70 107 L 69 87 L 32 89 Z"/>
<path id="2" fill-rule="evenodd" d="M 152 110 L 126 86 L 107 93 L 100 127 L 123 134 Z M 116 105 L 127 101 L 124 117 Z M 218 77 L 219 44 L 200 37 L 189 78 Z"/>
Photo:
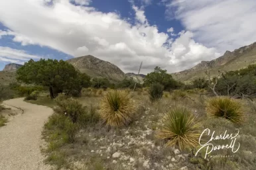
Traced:
<path id="1" fill-rule="evenodd" d="M 149 99 L 154 102 L 162 98 L 164 86 L 160 83 L 153 83 L 149 89 Z"/>

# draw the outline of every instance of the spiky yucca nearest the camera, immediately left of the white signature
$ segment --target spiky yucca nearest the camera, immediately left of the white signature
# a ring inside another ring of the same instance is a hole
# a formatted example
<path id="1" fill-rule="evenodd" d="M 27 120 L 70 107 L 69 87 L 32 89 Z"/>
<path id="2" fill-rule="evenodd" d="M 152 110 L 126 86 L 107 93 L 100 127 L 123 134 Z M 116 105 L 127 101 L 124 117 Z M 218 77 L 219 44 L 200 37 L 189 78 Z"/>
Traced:
<path id="1" fill-rule="evenodd" d="M 201 132 L 201 123 L 187 108 L 176 107 L 162 121 L 156 137 L 167 140 L 166 146 L 178 146 L 180 149 L 195 148 Z"/>

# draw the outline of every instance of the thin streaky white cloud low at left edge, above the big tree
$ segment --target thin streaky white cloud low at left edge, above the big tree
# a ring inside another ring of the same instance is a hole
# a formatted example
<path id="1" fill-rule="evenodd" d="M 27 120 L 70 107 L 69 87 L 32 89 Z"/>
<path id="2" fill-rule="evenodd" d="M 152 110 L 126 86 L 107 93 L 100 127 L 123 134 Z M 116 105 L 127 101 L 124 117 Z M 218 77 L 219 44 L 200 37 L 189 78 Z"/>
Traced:
<path id="1" fill-rule="evenodd" d="M 27 54 L 24 50 L 16 50 L 9 47 L 0 46 L 0 61 L 23 64 L 30 59 L 39 59 L 40 57 Z"/>

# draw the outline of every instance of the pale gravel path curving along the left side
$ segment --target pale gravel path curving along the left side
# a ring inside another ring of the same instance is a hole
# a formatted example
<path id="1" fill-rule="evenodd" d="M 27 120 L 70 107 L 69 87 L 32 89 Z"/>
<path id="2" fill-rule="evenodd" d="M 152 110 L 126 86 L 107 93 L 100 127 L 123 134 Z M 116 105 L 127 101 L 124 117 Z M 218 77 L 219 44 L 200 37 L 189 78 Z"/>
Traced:
<path id="1" fill-rule="evenodd" d="M 4 101 L 3 104 L 24 110 L 6 126 L 0 128 L 0 169 L 48 170 L 40 153 L 42 127 L 52 109 L 26 103 L 23 98 Z"/>

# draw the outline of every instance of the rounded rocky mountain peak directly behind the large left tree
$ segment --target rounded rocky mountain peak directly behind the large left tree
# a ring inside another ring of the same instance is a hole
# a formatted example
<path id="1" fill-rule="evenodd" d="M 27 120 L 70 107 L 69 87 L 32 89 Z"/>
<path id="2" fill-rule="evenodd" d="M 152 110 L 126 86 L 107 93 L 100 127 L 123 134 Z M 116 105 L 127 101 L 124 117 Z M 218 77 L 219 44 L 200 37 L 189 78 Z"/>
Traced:
<path id="1" fill-rule="evenodd" d="M 82 73 L 87 73 L 91 77 L 105 77 L 111 81 L 122 81 L 125 73 L 114 64 L 99 60 L 94 56 L 82 56 L 66 60 L 79 69 Z"/>

